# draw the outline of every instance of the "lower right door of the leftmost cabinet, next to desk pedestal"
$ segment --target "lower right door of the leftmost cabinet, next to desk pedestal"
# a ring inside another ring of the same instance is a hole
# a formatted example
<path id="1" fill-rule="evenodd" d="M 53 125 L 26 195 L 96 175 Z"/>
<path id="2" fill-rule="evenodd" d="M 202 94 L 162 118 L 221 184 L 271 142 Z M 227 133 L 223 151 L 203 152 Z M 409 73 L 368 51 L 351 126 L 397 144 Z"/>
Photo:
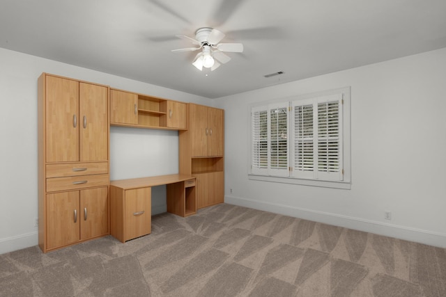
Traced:
<path id="1" fill-rule="evenodd" d="M 81 240 L 109 232 L 108 188 L 89 188 L 80 191 Z"/>

